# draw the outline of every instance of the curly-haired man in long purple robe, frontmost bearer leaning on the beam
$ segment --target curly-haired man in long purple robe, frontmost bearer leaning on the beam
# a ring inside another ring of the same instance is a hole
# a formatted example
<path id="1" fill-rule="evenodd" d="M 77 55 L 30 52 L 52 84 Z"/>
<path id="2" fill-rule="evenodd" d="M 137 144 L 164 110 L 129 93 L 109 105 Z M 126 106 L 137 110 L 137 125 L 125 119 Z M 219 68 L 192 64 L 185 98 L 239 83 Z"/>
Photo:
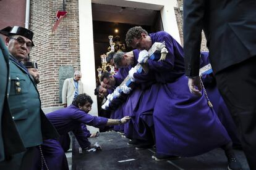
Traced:
<path id="1" fill-rule="evenodd" d="M 154 42 L 165 42 L 168 54 L 160 61 L 148 60 Z M 232 142 L 220 120 L 208 107 L 205 94 L 193 95 L 184 75 L 184 53 L 180 44 L 168 33 L 148 34 L 140 26 L 126 34 L 127 46 L 142 50 L 139 63 L 145 63 L 161 84 L 153 112 L 156 137 L 155 160 L 171 156 L 195 156 L 221 147 L 228 158 L 229 169 L 241 169 L 232 149 Z M 146 51 L 147 50 L 147 51 Z M 129 75 L 135 78 L 133 75 Z M 135 79 L 136 81 L 136 79 Z"/>

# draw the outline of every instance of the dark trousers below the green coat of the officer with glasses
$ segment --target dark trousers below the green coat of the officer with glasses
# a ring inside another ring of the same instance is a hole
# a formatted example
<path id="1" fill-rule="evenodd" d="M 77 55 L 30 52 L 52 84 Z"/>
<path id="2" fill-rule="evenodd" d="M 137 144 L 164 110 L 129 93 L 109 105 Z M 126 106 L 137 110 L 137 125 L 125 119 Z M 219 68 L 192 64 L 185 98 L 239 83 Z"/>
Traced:
<path id="1" fill-rule="evenodd" d="M 25 152 L 12 155 L 10 160 L 0 162 L 1 170 L 34 170 L 38 163 L 38 151 L 36 147 L 27 148 Z"/>

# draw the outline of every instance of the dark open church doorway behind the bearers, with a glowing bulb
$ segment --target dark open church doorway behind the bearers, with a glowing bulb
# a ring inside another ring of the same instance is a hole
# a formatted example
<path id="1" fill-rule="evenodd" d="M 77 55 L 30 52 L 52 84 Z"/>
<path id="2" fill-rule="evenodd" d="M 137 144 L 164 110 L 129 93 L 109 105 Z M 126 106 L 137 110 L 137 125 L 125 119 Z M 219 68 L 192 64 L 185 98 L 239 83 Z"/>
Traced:
<path id="1" fill-rule="evenodd" d="M 111 50 L 109 36 L 113 41 L 124 44 L 123 52 L 132 49 L 126 46 L 126 33 L 133 26 L 142 26 L 148 33 L 162 31 L 163 23 L 159 10 L 137 9 L 132 7 L 109 6 L 105 4 L 92 4 L 93 17 L 93 45 L 95 54 L 96 84 L 99 83 L 98 71 L 103 67 L 102 55 L 107 55 Z M 115 49 L 116 52 L 116 49 Z M 102 70 L 102 69 L 101 69 Z M 104 71 L 104 70 L 102 70 Z M 97 97 L 98 115 L 109 116 L 101 109 L 102 98 Z"/>

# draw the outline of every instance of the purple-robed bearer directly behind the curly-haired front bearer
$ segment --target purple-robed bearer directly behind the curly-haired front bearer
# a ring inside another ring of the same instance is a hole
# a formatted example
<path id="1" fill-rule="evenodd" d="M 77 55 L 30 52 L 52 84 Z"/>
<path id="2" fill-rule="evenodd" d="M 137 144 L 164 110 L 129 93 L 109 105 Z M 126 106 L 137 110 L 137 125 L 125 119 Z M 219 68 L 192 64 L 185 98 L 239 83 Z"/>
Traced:
<path id="1" fill-rule="evenodd" d="M 133 69 L 137 65 L 139 51 L 117 52 L 114 55 L 114 63 L 119 68 Z M 135 144 L 135 148 L 150 148 L 155 144 L 155 132 L 153 127 L 154 95 L 158 92 L 158 84 L 150 81 L 150 73 L 138 74 L 134 89 L 124 105 L 126 115 L 131 116 L 131 121 L 125 124 L 125 135 L 132 139 L 129 144 Z M 149 83 L 149 84 L 148 84 Z"/>

